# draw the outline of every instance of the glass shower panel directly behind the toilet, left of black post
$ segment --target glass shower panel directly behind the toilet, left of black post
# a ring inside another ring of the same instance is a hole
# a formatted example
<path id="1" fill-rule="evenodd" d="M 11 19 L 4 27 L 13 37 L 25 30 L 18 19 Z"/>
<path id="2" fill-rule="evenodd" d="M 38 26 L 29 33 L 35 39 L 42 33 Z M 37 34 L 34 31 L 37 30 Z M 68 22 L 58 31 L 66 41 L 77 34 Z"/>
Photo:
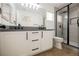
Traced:
<path id="1" fill-rule="evenodd" d="M 67 7 L 57 12 L 57 37 L 64 39 L 64 43 L 67 43 Z"/>

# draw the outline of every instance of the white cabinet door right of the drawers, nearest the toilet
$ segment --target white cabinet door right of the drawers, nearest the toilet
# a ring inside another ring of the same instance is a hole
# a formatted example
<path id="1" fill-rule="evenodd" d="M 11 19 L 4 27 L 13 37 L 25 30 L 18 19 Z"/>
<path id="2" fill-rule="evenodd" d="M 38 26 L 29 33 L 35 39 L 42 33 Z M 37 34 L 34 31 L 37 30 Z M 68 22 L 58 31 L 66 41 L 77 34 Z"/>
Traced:
<path id="1" fill-rule="evenodd" d="M 53 47 L 53 32 L 43 31 L 43 38 L 41 39 L 41 50 L 48 50 Z"/>

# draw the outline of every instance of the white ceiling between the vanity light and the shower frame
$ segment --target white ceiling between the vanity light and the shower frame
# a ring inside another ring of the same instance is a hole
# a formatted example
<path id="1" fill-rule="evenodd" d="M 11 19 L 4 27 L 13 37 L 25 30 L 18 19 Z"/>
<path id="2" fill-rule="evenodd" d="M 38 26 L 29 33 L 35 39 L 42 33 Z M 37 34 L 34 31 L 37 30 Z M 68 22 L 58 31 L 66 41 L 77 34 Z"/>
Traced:
<path id="1" fill-rule="evenodd" d="M 69 3 L 39 3 L 40 8 L 45 9 L 45 10 L 53 10 L 54 7 L 56 8 L 62 8 L 63 6 L 68 5 Z M 17 5 L 17 4 L 16 4 Z M 17 7 L 21 7 L 18 5 Z"/>

